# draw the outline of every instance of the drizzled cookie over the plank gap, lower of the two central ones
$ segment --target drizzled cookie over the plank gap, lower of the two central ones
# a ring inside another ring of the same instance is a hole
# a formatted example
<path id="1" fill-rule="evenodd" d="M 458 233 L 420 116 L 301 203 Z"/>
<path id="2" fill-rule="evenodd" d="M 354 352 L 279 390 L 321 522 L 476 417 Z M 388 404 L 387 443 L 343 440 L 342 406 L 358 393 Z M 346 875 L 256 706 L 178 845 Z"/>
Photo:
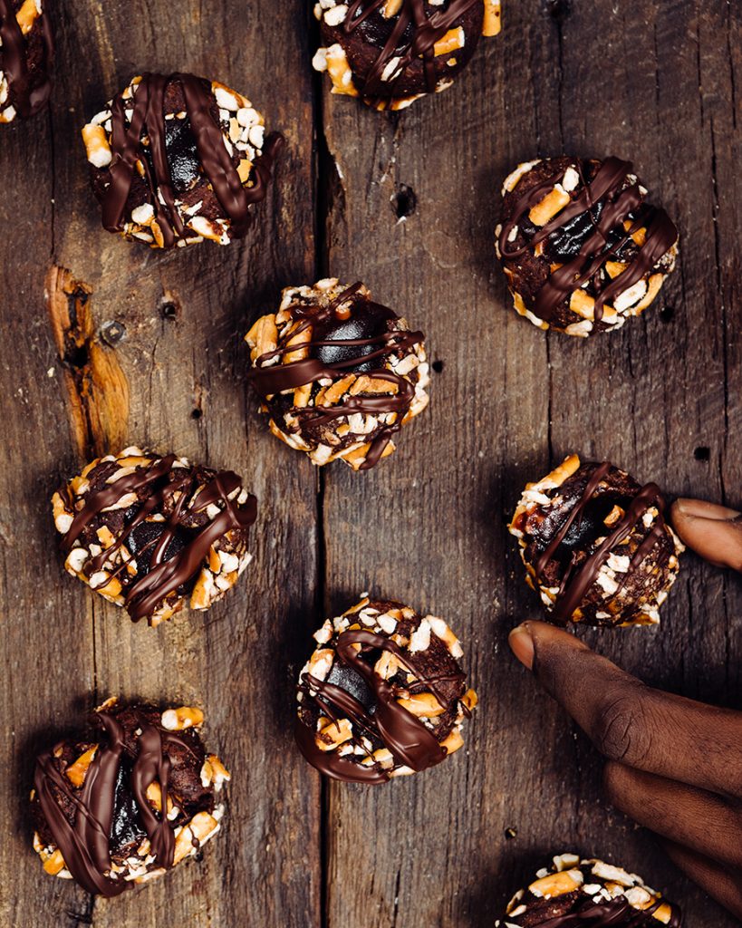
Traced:
<path id="1" fill-rule="evenodd" d="M 477 704 L 458 638 L 433 615 L 362 599 L 314 635 L 299 678 L 296 738 L 336 780 L 383 783 L 440 764 L 462 747 Z"/>

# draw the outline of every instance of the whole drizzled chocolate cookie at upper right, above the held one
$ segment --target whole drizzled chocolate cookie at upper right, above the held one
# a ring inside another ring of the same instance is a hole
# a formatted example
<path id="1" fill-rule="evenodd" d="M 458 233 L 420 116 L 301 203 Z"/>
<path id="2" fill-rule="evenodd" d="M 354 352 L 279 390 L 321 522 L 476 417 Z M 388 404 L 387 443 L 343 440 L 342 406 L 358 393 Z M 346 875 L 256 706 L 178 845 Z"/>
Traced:
<path id="1" fill-rule="evenodd" d="M 675 265 L 678 240 L 646 193 L 619 158 L 520 164 L 505 180 L 497 227 L 518 313 L 582 337 L 643 313 Z"/>

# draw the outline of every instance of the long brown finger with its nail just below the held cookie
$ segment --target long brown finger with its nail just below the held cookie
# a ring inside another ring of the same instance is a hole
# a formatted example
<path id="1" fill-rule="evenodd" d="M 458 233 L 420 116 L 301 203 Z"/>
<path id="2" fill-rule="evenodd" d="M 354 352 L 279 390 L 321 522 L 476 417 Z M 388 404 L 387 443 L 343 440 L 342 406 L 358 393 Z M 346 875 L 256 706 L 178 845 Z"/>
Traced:
<path id="1" fill-rule="evenodd" d="M 544 622 L 518 625 L 510 647 L 609 760 L 742 796 L 742 713 L 652 690 Z"/>

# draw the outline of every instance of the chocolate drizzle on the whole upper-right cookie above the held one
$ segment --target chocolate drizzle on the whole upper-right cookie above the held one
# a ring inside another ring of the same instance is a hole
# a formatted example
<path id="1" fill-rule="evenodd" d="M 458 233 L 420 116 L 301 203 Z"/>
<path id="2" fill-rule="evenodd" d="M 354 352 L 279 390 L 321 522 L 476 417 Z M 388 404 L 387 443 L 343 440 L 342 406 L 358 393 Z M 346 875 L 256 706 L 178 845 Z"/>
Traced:
<path id="1" fill-rule="evenodd" d="M 578 161 L 577 167 L 582 175 L 582 162 Z M 517 260 L 526 251 L 547 244 L 579 217 L 587 219 L 576 255 L 557 266 L 535 295 L 533 312 L 539 319 L 554 321 L 558 308 L 574 291 L 592 284 L 595 321 L 599 322 L 606 305 L 638 283 L 672 249 L 678 238 L 677 229 L 664 210 L 644 202 L 639 182 L 629 179 L 632 172 L 631 161 L 607 158 L 589 183 L 582 176 L 581 186 L 569 195 L 570 201 L 564 209 L 520 246 L 512 244 L 511 235 L 526 213 L 562 180 L 564 169 L 519 197 L 516 187 L 515 204 L 503 223 L 498 242 L 505 261 Z M 620 261 L 621 250 L 633 242 L 639 229 L 646 229 L 646 234 L 641 244 L 636 245 L 633 259 L 618 277 L 604 286 L 601 280 L 604 265 Z"/>

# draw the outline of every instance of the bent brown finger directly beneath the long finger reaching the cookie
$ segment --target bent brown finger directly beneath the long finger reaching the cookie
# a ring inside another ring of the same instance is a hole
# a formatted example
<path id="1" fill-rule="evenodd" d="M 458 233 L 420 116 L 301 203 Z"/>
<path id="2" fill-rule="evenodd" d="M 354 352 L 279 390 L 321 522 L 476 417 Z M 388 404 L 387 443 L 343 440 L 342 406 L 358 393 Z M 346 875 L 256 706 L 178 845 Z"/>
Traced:
<path id="1" fill-rule="evenodd" d="M 742 810 L 716 793 L 609 762 L 608 799 L 675 844 L 742 870 Z"/>

